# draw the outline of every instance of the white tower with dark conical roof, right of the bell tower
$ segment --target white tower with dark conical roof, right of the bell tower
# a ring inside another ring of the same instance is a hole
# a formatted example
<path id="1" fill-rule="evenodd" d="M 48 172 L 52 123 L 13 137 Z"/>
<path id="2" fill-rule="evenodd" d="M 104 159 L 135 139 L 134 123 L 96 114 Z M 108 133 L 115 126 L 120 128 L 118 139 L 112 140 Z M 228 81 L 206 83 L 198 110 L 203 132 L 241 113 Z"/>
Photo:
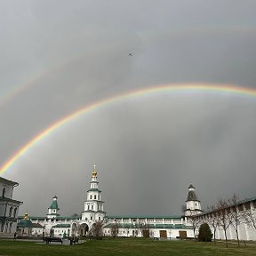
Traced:
<path id="1" fill-rule="evenodd" d="M 197 199 L 195 188 L 192 184 L 188 187 L 185 216 L 200 214 L 202 211 L 200 201 Z"/>

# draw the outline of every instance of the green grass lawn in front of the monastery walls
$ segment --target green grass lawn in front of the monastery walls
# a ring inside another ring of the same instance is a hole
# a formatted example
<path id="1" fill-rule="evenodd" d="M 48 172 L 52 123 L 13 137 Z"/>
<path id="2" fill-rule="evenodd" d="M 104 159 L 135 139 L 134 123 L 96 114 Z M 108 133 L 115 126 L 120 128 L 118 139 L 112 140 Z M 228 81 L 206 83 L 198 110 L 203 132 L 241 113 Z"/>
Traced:
<path id="1" fill-rule="evenodd" d="M 86 241 L 83 244 L 43 244 L 19 240 L 0 240 L 1 256 L 70 256 L 70 255 L 256 255 L 256 245 L 199 243 L 188 241 L 154 241 L 136 238 L 116 238 Z"/>

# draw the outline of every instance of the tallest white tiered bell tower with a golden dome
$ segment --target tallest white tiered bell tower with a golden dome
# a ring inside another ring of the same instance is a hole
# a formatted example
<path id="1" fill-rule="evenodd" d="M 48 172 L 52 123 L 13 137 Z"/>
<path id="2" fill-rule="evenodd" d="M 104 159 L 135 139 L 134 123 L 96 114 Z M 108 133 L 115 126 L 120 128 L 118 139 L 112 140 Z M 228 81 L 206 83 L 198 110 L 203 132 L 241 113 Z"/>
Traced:
<path id="1" fill-rule="evenodd" d="M 82 220 L 94 223 L 104 219 L 106 212 L 104 212 L 104 202 L 101 201 L 101 191 L 98 186 L 96 165 L 93 165 L 92 181 L 90 182 L 90 189 L 87 190 L 87 200 L 84 201 L 84 212 L 82 212 Z"/>

